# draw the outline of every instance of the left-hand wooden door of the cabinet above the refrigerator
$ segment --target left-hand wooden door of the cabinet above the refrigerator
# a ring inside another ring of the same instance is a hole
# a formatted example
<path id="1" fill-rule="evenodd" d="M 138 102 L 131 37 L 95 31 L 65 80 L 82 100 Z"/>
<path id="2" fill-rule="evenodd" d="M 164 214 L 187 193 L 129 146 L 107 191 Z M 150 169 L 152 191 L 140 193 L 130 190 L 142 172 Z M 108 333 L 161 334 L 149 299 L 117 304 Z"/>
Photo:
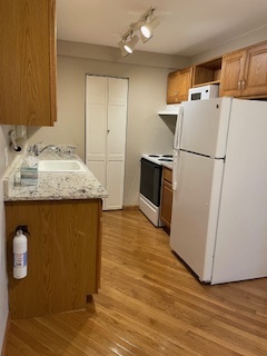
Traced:
<path id="1" fill-rule="evenodd" d="M 220 97 L 241 95 L 246 51 L 224 56 L 220 78 Z"/>

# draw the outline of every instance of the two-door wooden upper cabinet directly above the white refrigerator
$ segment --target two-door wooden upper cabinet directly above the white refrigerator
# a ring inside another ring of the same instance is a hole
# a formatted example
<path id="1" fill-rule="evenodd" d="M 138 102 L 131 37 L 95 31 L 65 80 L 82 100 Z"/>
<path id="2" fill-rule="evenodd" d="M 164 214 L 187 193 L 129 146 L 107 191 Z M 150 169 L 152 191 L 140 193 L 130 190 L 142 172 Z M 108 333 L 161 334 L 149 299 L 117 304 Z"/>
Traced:
<path id="1" fill-rule="evenodd" d="M 267 96 L 267 42 L 224 56 L 220 96 Z"/>

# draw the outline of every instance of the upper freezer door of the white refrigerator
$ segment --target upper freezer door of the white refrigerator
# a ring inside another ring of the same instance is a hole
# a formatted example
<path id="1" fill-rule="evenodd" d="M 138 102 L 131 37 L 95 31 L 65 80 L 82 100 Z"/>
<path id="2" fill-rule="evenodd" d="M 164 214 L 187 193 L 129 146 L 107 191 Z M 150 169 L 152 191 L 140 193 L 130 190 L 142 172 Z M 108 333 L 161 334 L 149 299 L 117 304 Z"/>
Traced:
<path id="1" fill-rule="evenodd" d="M 224 158 L 231 101 L 231 98 L 216 98 L 182 102 L 184 119 L 179 148 Z"/>

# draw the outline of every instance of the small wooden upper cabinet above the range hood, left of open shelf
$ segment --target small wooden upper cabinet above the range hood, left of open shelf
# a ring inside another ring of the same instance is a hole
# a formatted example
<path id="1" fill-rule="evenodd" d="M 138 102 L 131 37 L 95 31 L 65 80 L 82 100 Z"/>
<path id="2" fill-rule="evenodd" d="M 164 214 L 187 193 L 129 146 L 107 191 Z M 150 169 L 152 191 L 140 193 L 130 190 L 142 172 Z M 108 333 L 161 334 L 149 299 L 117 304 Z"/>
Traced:
<path id="1" fill-rule="evenodd" d="M 185 68 L 168 76 L 167 103 L 177 103 L 188 99 L 192 82 L 192 67 Z"/>

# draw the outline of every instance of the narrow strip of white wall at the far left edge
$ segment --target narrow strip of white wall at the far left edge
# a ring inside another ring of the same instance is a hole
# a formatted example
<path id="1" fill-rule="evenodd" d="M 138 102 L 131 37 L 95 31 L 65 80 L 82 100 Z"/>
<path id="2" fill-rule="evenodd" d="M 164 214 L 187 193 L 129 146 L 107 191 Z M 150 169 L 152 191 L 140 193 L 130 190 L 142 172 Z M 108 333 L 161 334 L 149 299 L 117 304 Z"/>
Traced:
<path id="1" fill-rule="evenodd" d="M 0 352 L 2 349 L 3 336 L 8 318 L 8 276 L 6 263 L 6 218 L 3 206 L 3 172 L 4 167 L 4 148 L 9 147 L 8 132 L 11 127 L 0 126 Z M 11 158 L 11 157 L 9 157 Z"/>

